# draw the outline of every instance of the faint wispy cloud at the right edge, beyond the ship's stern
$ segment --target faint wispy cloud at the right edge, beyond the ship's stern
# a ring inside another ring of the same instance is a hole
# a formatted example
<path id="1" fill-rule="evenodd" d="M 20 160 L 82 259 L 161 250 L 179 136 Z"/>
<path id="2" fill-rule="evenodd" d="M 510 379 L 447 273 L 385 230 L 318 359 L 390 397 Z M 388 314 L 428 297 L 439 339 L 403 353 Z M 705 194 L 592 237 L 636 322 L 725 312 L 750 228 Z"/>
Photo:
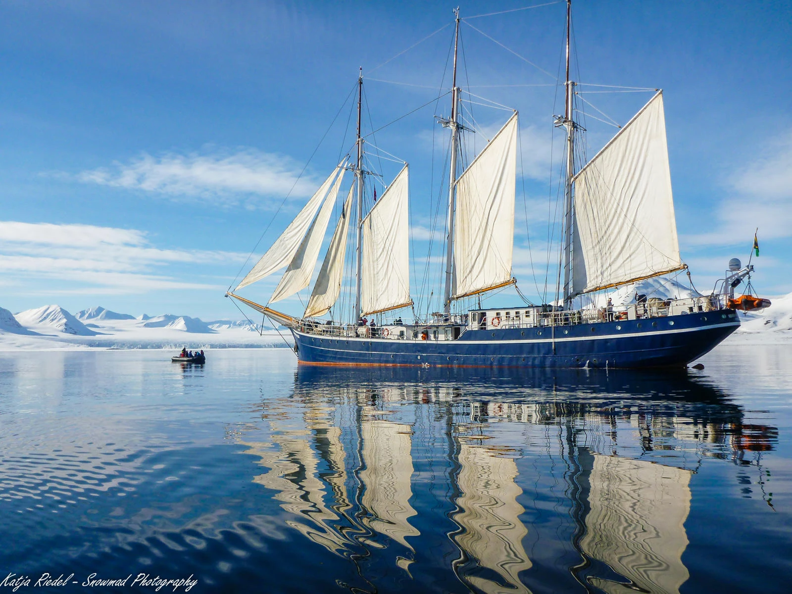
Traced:
<path id="1" fill-rule="evenodd" d="M 690 246 L 792 237 L 792 130 L 771 140 L 766 150 L 728 178 L 718 202 L 714 229 L 683 237 Z"/>

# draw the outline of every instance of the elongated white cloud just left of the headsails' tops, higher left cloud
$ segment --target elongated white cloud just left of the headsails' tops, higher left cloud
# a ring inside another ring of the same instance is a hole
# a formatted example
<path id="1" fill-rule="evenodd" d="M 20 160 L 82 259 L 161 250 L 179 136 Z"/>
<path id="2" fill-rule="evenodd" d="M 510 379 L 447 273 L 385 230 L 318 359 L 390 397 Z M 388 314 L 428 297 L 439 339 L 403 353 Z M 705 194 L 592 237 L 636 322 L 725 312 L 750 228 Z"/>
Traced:
<path id="1" fill-rule="evenodd" d="M 234 203 L 234 194 L 310 196 L 319 183 L 299 177 L 302 167 L 293 159 L 255 149 L 219 154 L 143 153 L 127 163 L 78 174 L 86 183 L 158 192 L 171 196 L 198 196 Z M 292 189 L 293 187 L 293 189 Z"/>

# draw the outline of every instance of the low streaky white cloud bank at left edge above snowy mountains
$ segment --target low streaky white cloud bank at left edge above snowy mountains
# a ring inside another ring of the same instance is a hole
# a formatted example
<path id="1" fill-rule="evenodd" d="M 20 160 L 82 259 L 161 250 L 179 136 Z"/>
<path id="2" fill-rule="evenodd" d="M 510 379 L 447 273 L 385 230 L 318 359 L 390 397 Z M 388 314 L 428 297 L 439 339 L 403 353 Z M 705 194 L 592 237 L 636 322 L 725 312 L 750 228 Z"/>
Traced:
<path id="1" fill-rule="evenodd" d="M 16 286 L 50 292 L 138 294 L 162 289 L 218 289 L 163 273 L 171 265 L 239 263 L 240 253 L 159 249 L 135 229 L 0 221 L 0 274 Z M 42 283 L 44 281 L 44 283 Z M 76 285 L 76 287 L 75 287 Z"/>

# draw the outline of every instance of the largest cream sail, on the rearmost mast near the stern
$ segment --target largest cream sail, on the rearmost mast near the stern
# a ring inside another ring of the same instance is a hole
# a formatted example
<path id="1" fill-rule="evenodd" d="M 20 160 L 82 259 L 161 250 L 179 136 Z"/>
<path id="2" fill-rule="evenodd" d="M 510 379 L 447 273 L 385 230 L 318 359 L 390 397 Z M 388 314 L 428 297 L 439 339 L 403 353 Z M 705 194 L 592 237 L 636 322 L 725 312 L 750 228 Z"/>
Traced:
<path id="1" fill-rule="evenodd" d="M 574 294 L 683 268 L 662 92 L 573 181 Z"/>

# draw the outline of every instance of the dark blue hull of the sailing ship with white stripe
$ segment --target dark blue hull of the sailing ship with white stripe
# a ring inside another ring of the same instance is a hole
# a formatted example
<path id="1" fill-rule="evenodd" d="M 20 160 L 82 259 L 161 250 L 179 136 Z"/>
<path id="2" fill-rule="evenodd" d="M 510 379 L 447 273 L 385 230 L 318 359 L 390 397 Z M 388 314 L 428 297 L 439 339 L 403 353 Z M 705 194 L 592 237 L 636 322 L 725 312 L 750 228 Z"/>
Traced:
<path id="1" fill-rule="evenodd" d="M 455 341 L 292 330 L 300 363 L 451 367 L 682 367 L 740 326 L 733 310 L 577 326 L 468 329 Z"/>

